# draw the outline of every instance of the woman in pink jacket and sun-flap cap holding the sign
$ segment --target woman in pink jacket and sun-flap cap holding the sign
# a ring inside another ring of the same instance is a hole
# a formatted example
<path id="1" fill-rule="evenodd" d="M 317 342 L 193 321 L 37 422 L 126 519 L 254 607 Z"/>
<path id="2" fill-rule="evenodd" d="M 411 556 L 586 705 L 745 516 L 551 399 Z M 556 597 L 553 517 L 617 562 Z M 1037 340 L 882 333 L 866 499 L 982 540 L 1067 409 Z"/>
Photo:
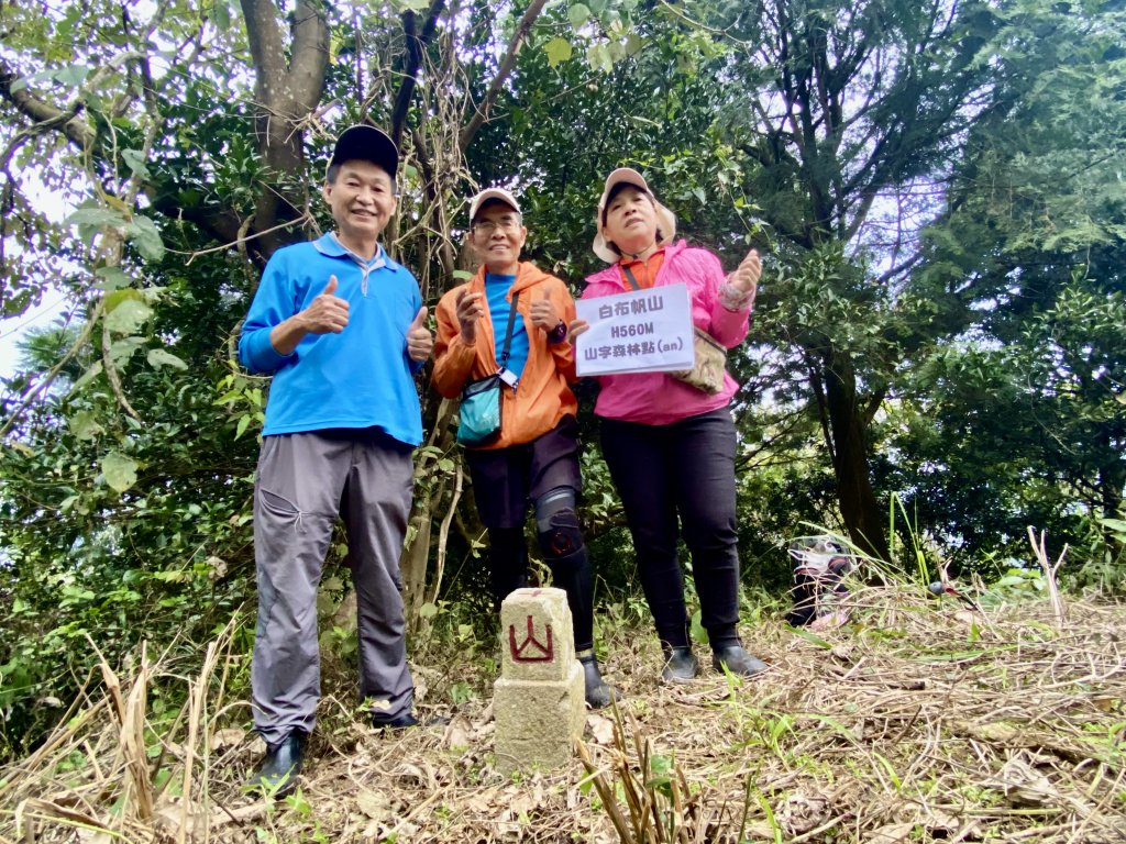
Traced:
<path id="1" fill-rule="evenodd" d="M 676 217 L 641 173 L 622 168 L 598 203 L 595 253 L 610 264 L 587 279 L 582 298 L 685 284 L 692 322 L 725 348 L 747 336 L 761 271 L 758 253 L 724 273 L 704 249 L 673 242 Z M 571 336 L 588 324 L 575 321 Z M 699 672 L 688 637 L 683 574 L 677 558 L 678 515 L 691 553 L 712 665 L 749 676 L 767 668 L 739 639 L 739 548 L 735 530 L 735 425 L 729 404 L 739 385 L 724 372 L 708 394 L 665 372 L 598 377 L 595 414 L 602 454 L 625 505 L 637 568 L 664 653 L 662 680 Z"/>

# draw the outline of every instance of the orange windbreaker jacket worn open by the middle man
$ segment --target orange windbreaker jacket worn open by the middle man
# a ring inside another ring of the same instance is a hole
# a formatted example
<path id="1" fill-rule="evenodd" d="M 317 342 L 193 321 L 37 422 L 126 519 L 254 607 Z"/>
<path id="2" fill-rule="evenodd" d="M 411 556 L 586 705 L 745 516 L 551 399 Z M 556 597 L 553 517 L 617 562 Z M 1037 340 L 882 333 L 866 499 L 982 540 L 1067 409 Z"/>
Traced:
<path id="1" fill-rule="evenodd" d="M 485 308 L 472 345 L 463 342 L 457 322 L 457 296 L 462 290 L 480 293 Z M 548 343 L 547 334 L 533 325 L 528 317 L 531 303 L 548 296 L 555 312 L 570 325 L 575 318 L 571 291 L 563 281 L 526 261 L 518 266 L 516 281 L 508 291 L 510 303 L 517 290 L 520 293 L 517 312 L 524 317 L 524 327 L 528 332 L 528 362 L 516 390 L 503 388 L 500 437 L 481 447 L 484 449 L 530 442 L 555 428 L 564 416 L 575 415 L 579 408 L 569 386 L 575 379 L 571 342 Z M 456 398 L 466 384 L 494 375 L 499 368 L 493 324 L 484 293 L 485 270 L 482 267 L 471 281 L 449 290 L 438 303 L 438 344 L 431 380 L 434 388 L 446 398 Z"/>

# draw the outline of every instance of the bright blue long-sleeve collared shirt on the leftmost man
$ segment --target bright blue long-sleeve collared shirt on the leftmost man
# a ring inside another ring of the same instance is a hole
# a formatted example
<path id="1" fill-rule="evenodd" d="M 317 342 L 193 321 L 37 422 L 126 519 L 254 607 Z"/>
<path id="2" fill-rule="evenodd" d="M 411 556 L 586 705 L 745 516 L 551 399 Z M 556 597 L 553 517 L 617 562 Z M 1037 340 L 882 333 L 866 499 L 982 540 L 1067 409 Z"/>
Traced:
<path id="1" fill-rule="evenodd" d="M 348 300 L 339 334 L 307 334 L 291 354 L 270 344 L 270 331 L 305 309 L 336 276 Z M 331 234 L 279 249 L 239 338 L 239 359 L 251 372 L 274 374 L 262 436 L 327 428 L 370 428 L 409 446 L 422 441 L 406 331 L 422 307 L 418 281 L 381 248 L 366 262 Z"/>

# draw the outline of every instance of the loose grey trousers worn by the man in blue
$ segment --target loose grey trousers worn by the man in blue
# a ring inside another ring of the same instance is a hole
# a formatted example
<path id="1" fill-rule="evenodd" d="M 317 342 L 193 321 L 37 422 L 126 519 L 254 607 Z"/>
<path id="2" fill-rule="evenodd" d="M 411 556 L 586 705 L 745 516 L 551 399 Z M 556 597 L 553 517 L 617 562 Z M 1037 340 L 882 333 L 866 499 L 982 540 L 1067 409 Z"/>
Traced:
<path id="1" fill-rule="evenodd" d="M 409 712 L 399 558 L 414 467 L 410 447 L 374 429 L 266 437 L 254 483 L 258 628 L 254 729 L 268 744 L 311 733 L 321 697 L 316 590 L 339 514 L 359 628 L 359 694 L 381 718 Z"/>

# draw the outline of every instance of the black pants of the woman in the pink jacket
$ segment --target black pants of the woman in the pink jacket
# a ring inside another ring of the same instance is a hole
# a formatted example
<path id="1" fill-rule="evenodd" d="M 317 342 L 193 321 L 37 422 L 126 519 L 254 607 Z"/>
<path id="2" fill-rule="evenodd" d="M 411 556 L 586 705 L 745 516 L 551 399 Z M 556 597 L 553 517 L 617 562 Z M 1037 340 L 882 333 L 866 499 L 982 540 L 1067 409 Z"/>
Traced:
<path id="1" fill-rule="evenodd" d="M 688 645 L 678 514 L 712 646 L 739 640 L 735 424 L 721 407 L 670 425 L 602 420 L 602 454 L 625 505 L 661 643 Z"/>

